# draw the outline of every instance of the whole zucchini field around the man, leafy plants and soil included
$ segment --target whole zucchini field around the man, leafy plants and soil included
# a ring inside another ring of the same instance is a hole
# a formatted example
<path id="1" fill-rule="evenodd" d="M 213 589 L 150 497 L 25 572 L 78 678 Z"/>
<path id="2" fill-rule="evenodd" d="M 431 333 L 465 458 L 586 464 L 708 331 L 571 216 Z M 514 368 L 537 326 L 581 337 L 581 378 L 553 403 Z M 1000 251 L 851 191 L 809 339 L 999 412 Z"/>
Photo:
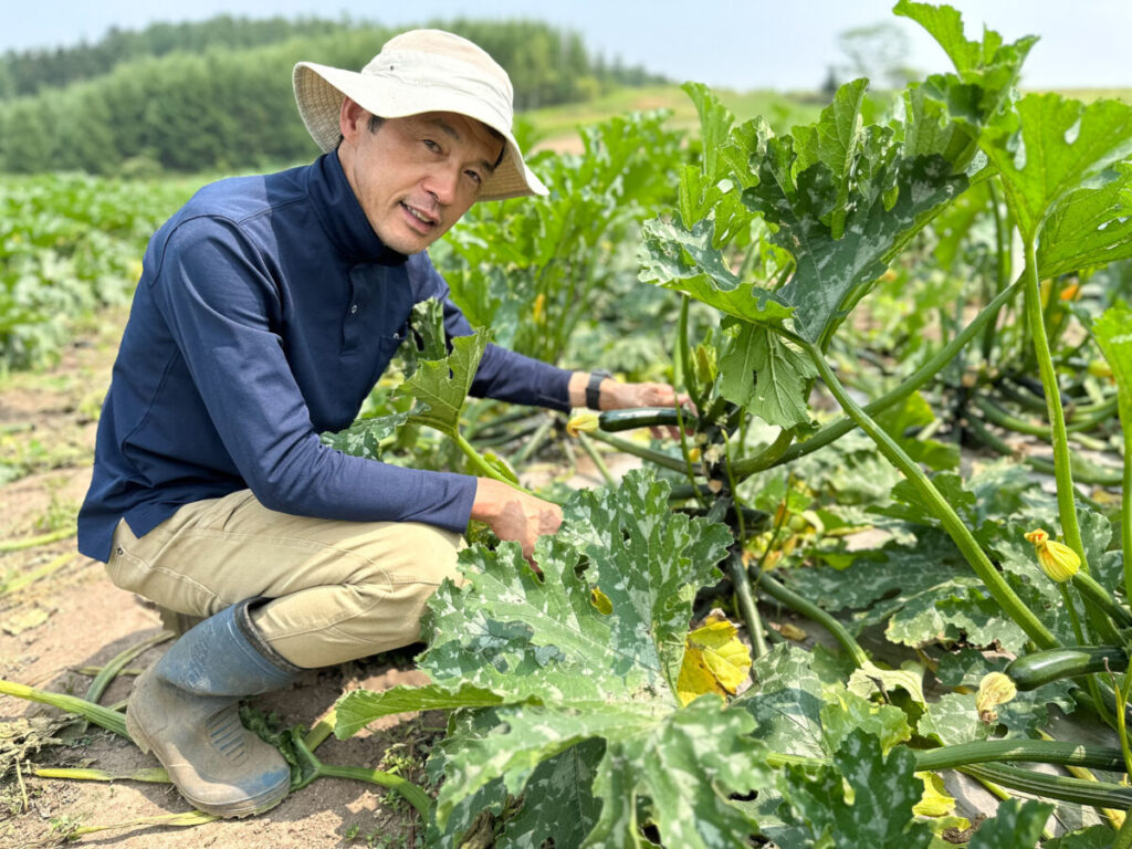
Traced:
<path id="1" fill-rule="evenodd" d="M 1026 40 L 897 11 L 953 71 L 528 118 L 551 195 L 431 249 L 475 333 L 420 305 L 323 441 L 564 524 L 534 568 L 472 523 L 421 644 L 251 700 L 292 792 L 245 821 L 129 740 L 172 635 L 74 550 L 145 240 L 201 180 L 0 182 L 0 843 L 1132 847 L 1132 98 L 1019 93 Z M 691 403 L 470 398 L 488 340 Z"/>

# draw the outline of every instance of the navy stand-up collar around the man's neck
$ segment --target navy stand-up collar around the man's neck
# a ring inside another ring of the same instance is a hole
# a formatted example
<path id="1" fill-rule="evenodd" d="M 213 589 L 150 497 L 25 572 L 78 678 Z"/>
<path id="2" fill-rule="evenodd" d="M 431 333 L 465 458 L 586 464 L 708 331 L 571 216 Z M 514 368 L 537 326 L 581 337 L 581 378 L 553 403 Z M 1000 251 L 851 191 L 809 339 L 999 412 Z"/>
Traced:
<path id="1" fill-rule="evenodd" d="M 337 151 L 323 154 L 310 166 L 308 191 L 315 213 L 334 247 L 357 265 L 402 265 L 409 257 L 377 238 L 350 188 Z"/>

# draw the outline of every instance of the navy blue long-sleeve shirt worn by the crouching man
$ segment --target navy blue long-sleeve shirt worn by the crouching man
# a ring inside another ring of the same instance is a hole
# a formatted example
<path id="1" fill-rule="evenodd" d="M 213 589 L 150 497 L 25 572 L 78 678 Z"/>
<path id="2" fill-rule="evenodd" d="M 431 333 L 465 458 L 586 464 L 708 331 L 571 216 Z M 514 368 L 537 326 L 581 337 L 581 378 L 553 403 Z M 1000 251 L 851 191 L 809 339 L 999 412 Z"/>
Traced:
<path id="1" fill-rule="evenodd" d="M 250 488 L 305 516 L 462 531 L 473 478 L 378 463 L 319 440 L 350 424 L 415 302 L 471 327 L 427 254 L 370 228 L 335 153 L 197 192 L 151 239 L 103 404 L 79 550 L 110 556 L 185 504 Z M 472 394 L 566 410 L 569 372 L 489 345 Z"/>

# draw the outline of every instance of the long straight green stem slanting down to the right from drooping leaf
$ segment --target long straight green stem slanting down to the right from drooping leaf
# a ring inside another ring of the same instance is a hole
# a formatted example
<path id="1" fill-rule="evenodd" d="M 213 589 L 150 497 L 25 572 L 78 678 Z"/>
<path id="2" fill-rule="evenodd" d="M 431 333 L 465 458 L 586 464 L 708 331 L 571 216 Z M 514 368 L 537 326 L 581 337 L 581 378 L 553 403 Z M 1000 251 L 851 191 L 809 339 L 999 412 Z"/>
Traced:
<path id="1" fill-rule="evenodd" d="M 904 453 L 897 441 L 884 431 L 873 419 L 861 410 L 860 405 L 846 392 L 844 386 L 838 379 L 837 375 L 830 368 L 830 365 L 825 361 L 822 352 L 811 342 L 801 338 L 796 338 L 803 349 L 809 354 L 811 360 L 813 360 L 815 367 L 817 368 L 818 375 L 825 381 L 826 388 L 837 398 L 837 402 L 841 405 L 841 409 L 849 414 L 849 417 L 860 426 L 877 447 L 881 449 L 881 454 L 892 463 L 897 469 L 899 469 L 903 475 L 909 480 L 909 482 L 915 487 L 916 491 L 919 494 L 924 504 L 928 507 L 933 515 L 940 520 L 943 529 L 947 532 L 951 539 L 954 541 L 955 546 L 967 558 L 975 574 L 983 581 L 987 590 L 994 597 L 995 601 L 998 602 L 1000 607 L 1005 611 L 1011 619 L 1013 619 L 1022 631 L 1026 632 L 1027 636 L 1030 637 L 1039 648 L 1053 649 L 1057 645 L 1057 640 L 1054 635 L 1041 624 L 1041 620 L 1034 615 L 1027 606 L 1006 583 L 1005 578 L 998 573 L 994 564 L 990 563 L 990 558 L 987 557 L 986 552 L 976 541 L 974 534 L 963 524 L 962 520 L 955 513 L 954 508 L 947 503 L 947 500 L 940 494 L 940 490 L 935 488 L 935 484 L 928 480 L 924 470 Z"/>

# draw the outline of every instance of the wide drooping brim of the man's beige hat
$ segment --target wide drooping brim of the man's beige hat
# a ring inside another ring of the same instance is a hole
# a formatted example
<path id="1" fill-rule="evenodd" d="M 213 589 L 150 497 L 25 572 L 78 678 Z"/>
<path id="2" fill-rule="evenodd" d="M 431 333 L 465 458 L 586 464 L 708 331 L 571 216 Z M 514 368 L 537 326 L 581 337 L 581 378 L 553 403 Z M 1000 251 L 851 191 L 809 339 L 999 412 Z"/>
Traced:
<path id="1" fill-rule="evenodd" d="M 477 200 L 548 195 L 549 190 L 523 161 L 509 122 L 480 97 L 458 87 L 411 85 L 396 78 L 332 68 L 317 62 L 299 62 L 293 74 L 299 114 L 315 144 L 324 153 L 338 146 L 338 122 L 344 97 L 381 118 L 406 118 L 424 112 L 454 112 L 490 127 L 505 140 L 503 160 L 483 181 Z"/>

